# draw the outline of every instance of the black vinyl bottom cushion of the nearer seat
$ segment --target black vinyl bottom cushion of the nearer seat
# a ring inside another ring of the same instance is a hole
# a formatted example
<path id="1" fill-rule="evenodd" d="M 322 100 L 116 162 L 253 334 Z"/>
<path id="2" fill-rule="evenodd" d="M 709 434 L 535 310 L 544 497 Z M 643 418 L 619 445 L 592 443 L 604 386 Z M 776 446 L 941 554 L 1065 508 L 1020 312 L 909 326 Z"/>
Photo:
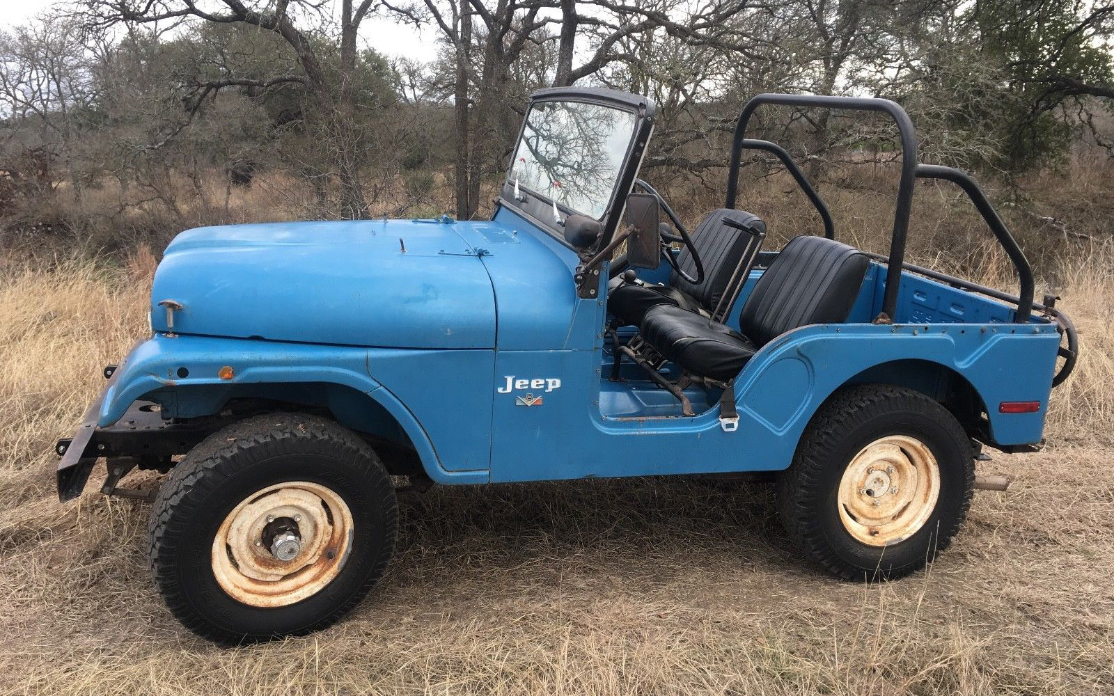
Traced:
<path id="1" fill-rule="evenodd" d="M 651 307 L 641 333 L 663 357 L 721 382 L 739 374 L 758 350 L 730 326 L 671 304 Z"/>

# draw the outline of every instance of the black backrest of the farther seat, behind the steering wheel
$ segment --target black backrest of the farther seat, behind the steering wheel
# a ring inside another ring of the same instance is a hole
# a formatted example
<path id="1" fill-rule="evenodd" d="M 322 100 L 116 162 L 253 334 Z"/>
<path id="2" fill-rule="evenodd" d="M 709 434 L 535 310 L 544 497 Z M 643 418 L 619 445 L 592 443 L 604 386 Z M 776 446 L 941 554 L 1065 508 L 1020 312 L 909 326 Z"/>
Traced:
<path id="1" fill-rule="evenodd" d="M 746 252 L 746 245 L 752 238 L 742 229 L 725 225 L 723 220 L 729 217 L 745 226 L 758 227 L 765 232 L 765 223 L 762 222 L 762 218 L 746 210 L 732 208 L 712 210 L 688 235 L 704 264 L 704 280 L 700 283 L 690 283 L 677 275 L 676 271 L 670 275 L 670 285 L 700 301 L 701 305 L 710 312 L 720 304 L 740 259 Z M 682 247 L 677 255 L 677 265 L 690 276 L 696 277 L 696 264 L 693 262 L 692 254 L 688 253 L 688 247 Z"/>

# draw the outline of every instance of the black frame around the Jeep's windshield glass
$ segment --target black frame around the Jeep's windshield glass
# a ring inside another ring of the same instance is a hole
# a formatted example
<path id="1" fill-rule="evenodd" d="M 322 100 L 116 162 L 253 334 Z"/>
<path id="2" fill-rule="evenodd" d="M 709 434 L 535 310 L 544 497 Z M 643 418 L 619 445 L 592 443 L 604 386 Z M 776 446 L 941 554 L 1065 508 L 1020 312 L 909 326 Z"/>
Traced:
<path id="1" fill-rule="evenodd" d="M 649 136 L 654 128 L 654 114 L 656 110 L 654 102 L 653 100 L 639 95 L 595 87 L 553 87 L 539 90 L 530 96 L 530 101 L 527 105 L 526 112 L 522 115 L 522 122 L 518 128 L 518 135 L 515 138 L 512 149 L 509 154 L 509 160 L 505 170 L 504 185 L 498 198 L 496 199 L 496 204 L 500 207 L 507 207 L 515 210 L 517 214 L 525 217 L 529 223 L 541 228 L 563 245 L 574 249 L 576 249 L 576 247 L 570 245 L 565 239 L 564 227 L 558 225 L 553 219 L 553 206 L 555 205 L 553 198 L 541 192 L 534 190 L 521 183 L 519 183 L 518 198 L 515 197 L 515 179 L 512 177 L 515 153 L 518 150 L 518 145 L 522 140 L 522 135 L 526 130 L 526 121 L 530 111 L 538 102 L 541 101 L 575 101 L 593 104 L 596 106 L 627 111 L 633 114 L 635 117 L 634 131 L 618 168 L 618 176 L 616 177 L 615 185 L 612 188 L 609 197 L 607 198 L 604 212 L 598 218 L 603 225 L 603 234 L 600 235 L 599 242 L 595 245 L 595 248 L 603 248 L 610 242 L 612 236 L 615 234 L 615 228 L 622 217 L 623 208 L 626 203 L 626 195 L 631 193 L 634 180 L 638 175 L 638 168 L 642 166 L 642 159 L 646 151 L 646 145 L 649 141 Z M 583 213 L 569 208 L 560 202 L 557 202 L 556 206 L 563 218 L 567 218 L 569 215 L 584 215 Z M 579 252 L 582 249 L 576 251 Z"/>

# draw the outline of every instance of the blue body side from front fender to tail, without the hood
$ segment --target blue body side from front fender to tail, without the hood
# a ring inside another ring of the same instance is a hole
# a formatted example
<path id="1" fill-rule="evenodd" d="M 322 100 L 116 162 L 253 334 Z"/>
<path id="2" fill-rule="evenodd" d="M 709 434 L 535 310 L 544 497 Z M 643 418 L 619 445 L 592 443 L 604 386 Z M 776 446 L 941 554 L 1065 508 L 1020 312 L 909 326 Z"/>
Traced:
<path id="1" fill-rule="evenodd" d="M 597 302 L 583 304 L 592 322 L 602 322 Z M 207 385 L 219 393 L 228 386 L 217 371 L 229 365 L 233 383 L 332 382 L 372 395 L 404 423 L 431 478 L 442 482 L 485 481 L 487 462 L 491 481 L 780 470 L 834 390 L 876 365 L 909 359 L 966 379 L 988 406 L 997 442 L 1037 442 L 1059 344 L 1055 327 L 1043 323 L 805 326 L 764 346 L 736 378 L 740 424 L 726 433 L 716 408 L 693 418 L 604 418 L 602 341 L 589 335 L 594 345 L 586 349 L 492 352 L 157 334 L 121 366 L 99 421 L 114 422 L 159 390 L 185 396 L 183 388 Z M 187 376 L 179 376 L 182 367 Z M 212 394 L 194 410 L 215 408 Z M 1000 414 L 1001 401 L 1039 401 L 1040 410 Z"/>

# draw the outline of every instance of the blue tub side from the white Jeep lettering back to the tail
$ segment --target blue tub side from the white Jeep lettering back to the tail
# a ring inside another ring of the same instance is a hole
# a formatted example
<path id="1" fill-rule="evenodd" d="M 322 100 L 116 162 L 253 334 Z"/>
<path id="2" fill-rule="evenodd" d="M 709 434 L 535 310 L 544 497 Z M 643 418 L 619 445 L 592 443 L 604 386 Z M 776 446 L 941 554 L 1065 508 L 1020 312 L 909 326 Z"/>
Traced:
<path id="1" fill-rule="evenodd" d="M 720 428 L 716 408 L 693 418 L 604 419 L 595 403 L 600 375 L 599 355 L 593 352 L 499 352 L 497 383 L 505 375 L 557 375 L 563 382 L 534 408 L 516 405 L 526 390 L 496 393 L 491 480 L 781 470 L 832 392 L 874 365 L 909 356 L 967 379 L 990 404 L 996 441 L 1037 442 L 1059 335 L 1052 326 L 1010 331 L 983 325 L 798 329 L 765 346 L 736 378 L 740 422 L 731 433 Z M 997 413 L 1000 401 L 1028 400 L 1040 401 L 1039 412 Z"/>

